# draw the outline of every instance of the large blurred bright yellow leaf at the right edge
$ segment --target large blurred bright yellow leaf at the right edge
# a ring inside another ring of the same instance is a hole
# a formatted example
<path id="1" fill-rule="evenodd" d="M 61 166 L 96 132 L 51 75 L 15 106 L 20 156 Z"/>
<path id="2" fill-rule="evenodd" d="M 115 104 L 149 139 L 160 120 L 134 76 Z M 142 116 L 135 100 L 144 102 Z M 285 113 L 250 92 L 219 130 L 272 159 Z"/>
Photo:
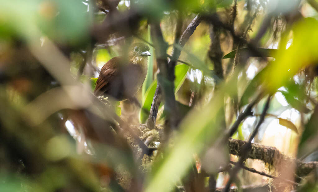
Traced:
<path id="1" fill-rule="evenodd" d="M 293 28 L 293 43 L 288 49 L 278 49 L 273 60 L 263 75 L 264 85 L 269 92 L 274 92 L 285 86 L 290 78 L 318 60 L 318 21 L 314 18 L 304 18 L 295 23 Z M 283 36 L 288 36 L 289 33 Z"/>

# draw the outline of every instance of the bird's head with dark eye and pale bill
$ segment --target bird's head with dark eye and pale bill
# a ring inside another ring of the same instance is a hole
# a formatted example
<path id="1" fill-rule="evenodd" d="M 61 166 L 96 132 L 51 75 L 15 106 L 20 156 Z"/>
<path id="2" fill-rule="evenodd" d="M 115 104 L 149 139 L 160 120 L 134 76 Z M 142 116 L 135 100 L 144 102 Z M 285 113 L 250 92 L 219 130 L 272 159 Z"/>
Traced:
<path id="1" fill-rule="evenodd" d="M 133 64 L 141 64 L 141 62 L 150 56 L 149 46 L 143 43 L 134 43 L 131 46 L 130 57 Z"/>

